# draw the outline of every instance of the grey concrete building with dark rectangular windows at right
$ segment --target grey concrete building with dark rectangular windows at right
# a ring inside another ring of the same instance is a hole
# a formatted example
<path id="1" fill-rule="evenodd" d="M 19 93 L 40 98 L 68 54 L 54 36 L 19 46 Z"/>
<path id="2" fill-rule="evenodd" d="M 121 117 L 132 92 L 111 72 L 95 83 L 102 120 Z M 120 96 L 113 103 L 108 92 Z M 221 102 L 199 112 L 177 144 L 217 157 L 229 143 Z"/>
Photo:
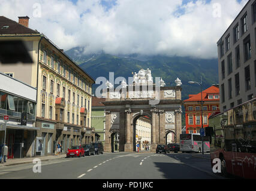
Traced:
<path id="1" fill-rule="evenodd" d="M 256 1 L 249 0 L 218 45 L 220 109 L 256 96 Z"/>

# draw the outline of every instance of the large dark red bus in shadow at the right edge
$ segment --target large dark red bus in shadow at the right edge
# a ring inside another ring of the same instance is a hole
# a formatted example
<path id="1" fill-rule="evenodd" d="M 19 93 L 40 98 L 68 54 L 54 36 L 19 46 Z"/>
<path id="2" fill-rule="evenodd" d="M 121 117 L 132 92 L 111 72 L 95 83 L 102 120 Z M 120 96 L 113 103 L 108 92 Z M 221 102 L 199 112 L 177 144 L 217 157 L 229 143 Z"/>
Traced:
<path id="1" fill-rule="evenodd" d="M 209 117 L 210 155 L 221 174 L 256 178 L 256 98 Z"/>

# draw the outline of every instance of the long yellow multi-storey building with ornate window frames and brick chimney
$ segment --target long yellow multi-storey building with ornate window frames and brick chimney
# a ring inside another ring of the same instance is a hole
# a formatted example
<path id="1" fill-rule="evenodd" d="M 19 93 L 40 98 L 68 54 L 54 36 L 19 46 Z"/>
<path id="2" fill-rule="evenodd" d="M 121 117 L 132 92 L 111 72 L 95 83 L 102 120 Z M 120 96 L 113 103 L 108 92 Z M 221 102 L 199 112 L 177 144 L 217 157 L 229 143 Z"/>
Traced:
<path id="1" fill-rule="evenodd" d="M 0 72 L 37 88 L 35 126 L 40 130 L 35 135 L 36 155 L 54 154 L 58 142 L 66 152 L 73 144 L 94 141 L 94 79 L 45 35 L 29 29 L 28 20 L 29 17 L 19 17 L 19 24 L 0 17 L 0 40 L 21 40 L 32 58 L 32 63 L 0 62 Z"/>

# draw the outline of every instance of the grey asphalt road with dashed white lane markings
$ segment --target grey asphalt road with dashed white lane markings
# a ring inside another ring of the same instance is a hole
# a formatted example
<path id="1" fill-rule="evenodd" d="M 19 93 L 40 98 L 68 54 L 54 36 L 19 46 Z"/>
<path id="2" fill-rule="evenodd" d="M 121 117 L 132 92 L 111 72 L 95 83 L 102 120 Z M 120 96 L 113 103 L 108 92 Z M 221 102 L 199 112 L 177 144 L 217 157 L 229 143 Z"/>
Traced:
<path id="1" fill-rule="evenodd" d="M 37 173 L 35 164 L 1 167 L 0 179 L 223 179 L 212 172 L 210 159 L 192 155 L 119 152 L 58 158 L 43 161 Z"/>

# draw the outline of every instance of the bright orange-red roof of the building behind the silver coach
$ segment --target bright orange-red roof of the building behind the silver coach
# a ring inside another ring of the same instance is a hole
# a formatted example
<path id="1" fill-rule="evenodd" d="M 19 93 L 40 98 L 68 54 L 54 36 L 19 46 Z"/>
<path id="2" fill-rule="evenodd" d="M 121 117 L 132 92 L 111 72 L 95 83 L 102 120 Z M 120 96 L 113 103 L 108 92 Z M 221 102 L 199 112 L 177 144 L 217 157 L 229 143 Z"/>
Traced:
<path id="1" fill-rule="evenodd" d="M 219 101 L 219 98 L 218 99 L 215 99 L 213 97 L 213 99 L 209 99 L 208 98 L 208 95 L 219 95 L 219 88 L 216 87 L 215 85 L 213 85 L 212 87 L 210 88 L 207 88 L 206 90 L 203 90 L 203 101 Z M 189 98 L 187 100 L 184 100 L 184 102 L 189 102 L 189 101 L 201 101 L 201 92 L 198 93 L 198 94 L 194 94 L 194 95 L 189 95 Z"/>

